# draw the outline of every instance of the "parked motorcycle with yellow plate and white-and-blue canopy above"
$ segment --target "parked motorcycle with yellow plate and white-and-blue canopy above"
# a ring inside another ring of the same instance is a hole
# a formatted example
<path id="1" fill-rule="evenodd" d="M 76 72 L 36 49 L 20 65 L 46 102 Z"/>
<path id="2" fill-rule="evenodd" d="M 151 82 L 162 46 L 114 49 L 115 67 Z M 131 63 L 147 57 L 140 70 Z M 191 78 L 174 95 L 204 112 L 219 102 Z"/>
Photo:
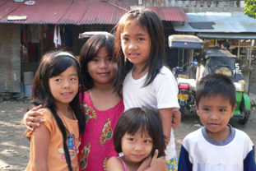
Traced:
<path id="1" fill-rule="evenodd" d="M 203 41 L 195 35 L 170 35 L 169 46 L 171 49 L 199 49 L 202 51 Z M 198 62 L 193 62 L 193 58 L 189 62 L 183 64 L 182 67 L 174 67 L 174 73 L 179 87 L 179 111 L 184 114 L 185 111 L 193 113 L 192 107 L 195 104 L 195 88 L 196 80 L 191 78 L 190 69 Z M 188 67 L 187 71 L 184 68 Z"/>

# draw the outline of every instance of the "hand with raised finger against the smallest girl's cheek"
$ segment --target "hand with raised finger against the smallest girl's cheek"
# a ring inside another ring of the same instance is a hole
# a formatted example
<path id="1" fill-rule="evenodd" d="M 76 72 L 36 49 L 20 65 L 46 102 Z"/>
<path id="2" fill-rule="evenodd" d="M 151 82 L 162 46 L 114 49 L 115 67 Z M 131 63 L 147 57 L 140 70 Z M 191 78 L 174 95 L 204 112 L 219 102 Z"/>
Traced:
<path id="1" fill-rule="evenodd" d="M 152 158 L 151 161 L 151 169 L 152 170 L 157 170 L 157 171 L 164 171 L 164 170 L 168 170 L 166 162 L 165 162 L 165 157 L 159 157 L 157 158 L 158 155 L 158 150 L 155 150 L 154 156 Z"/>

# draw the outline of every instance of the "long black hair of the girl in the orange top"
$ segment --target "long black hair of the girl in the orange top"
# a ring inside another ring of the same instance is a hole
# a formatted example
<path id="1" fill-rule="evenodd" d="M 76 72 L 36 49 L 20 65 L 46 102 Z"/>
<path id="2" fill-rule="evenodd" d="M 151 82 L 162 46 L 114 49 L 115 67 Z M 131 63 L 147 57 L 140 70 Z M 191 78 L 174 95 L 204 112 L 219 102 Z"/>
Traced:
<path id="1" fill-rule="evenodd" d="M 32 90 L 32 99 L 36 102 L 34 104 L 42 104 L 43 108 L 48 108 L 54 115 L 60 131 L 63 134 L 63 149 L 65 152 L 65 158 L 67 161 L 68 169 L 72 170 L 72 164 L 70 155 L 67 149 L 67 128 L 64 126 L 63 121 L 59 118 L 56 111 L 56 105 L 54 104 L 54 96 L 51 93 L 49 87 L 49 78 L 58 76 L 64 72 L 68 67 L 74 66 L 77 69 L 77 76 L 79 79 L 79 85 L 81 85 L 81 73 L 79 63 L 74 59 L 66 55 L 55 56 L 58 52 L 46 53 L 40 62 L 40 66 L 35 73 L 35 78 L 33 81 L 33 90 Z M 84 115 L 81 110 L 79 100 L 79 92 L 83 92 L 83 86 L 79 87 L 77 95 L 72 102 L 69 103 L 73 113 L 75 114 L 78 124 L 79 124 L 79 133 L 80 135 L 85 130 L 86 122 Z M 81 95 L 83 99 L 83 95 Z"/>

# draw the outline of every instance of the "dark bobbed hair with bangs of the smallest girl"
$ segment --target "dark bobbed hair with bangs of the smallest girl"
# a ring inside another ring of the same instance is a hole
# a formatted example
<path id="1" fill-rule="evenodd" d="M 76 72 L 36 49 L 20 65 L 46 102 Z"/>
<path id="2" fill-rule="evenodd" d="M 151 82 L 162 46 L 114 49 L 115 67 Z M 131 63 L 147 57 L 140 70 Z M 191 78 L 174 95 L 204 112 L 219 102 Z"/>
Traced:
<path id="1" fill-rule="evenodd" d="M 159 150 L 158 156 L 165 156 L 165 136 L 161 119 L 158 111 L 151 107 L 128 109 L 121 115 L 114 131 L 114 150 L 121 153 L 124 134 L 134 135 L 139 129 L 142 129 L 142 133 L 148 133 L 152 138 L 151 156 L 154 155 L 156 149 Z"/>

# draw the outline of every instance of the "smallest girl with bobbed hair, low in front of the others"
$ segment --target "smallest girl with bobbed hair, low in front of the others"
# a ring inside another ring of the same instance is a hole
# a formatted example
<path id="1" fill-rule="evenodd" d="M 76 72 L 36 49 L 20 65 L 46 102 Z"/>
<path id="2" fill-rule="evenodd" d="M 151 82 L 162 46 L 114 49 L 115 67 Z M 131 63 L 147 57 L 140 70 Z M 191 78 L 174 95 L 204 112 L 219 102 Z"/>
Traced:
<path id="1" fill-rule="evenodd" d="M 141 167 L 142 170 L 150 171 L 154 169 L 157 155 L 165 156 L 165 136 L 156 109 L 146 107 L 128 109 L 119 118 L 113 138 L 114 149 L 118 153 L 123 152 L 123 156 L 110 158 L 108 171 L 136 171 L 142 165 L 142 161 L 151 156 L 152 167 L 143 169 Z M 155 153 L 156 149 L 158 154 Z"/>

